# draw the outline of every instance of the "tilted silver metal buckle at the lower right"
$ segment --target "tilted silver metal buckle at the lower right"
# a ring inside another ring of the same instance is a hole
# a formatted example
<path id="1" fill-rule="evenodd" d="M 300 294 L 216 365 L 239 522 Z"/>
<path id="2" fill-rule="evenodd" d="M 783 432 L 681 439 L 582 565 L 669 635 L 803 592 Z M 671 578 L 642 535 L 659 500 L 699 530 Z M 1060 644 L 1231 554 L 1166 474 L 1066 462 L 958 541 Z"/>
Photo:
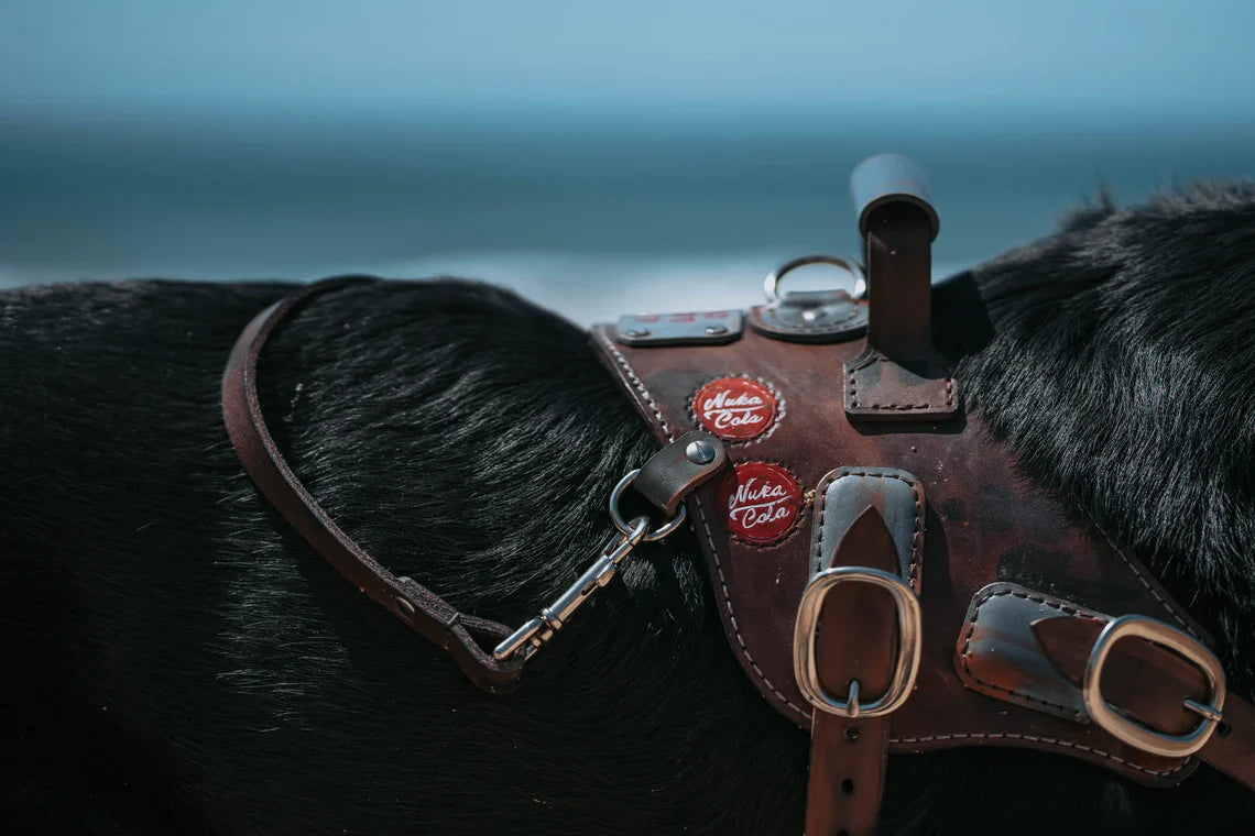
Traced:
<path id="1" fill-rule="evenodd" d="M 1194 699 L 1186 699 L 1185 706 L 1197 713 L 1202 719 L 1197 726 L 1185 734 L 1165 734 L 1148 726 L 1130 719 L 1118 712 L 1102 696 L 1102 669 L 1107 663 L 1111 649 L 1122 638 L 1143 638 L 1155 644 L 1161 644 L 1177 653 L 1194 666 L 1196 666 L 1207 678 L 1209 704 L 1201 704 Z M 1216 724 L 1220 722 L 1221 711 L 1225 707 L 1225 672 L 1220 667 L 1216 654 L 1200 644 L 1187 633 L 1163 622 L 1145 615 L 1122 615 L 1107 623 L 1093 648 L 1089 651 L 1089 662 L 1086 664 L 1086 677 L 1081 686 L 1081 696 L 1086 703 L 1086 711 L 1094 723 L 1130 746 L 1162 755 L 1165 757 L 1187 757 L 1194 755 L 1211 739 Z"/>

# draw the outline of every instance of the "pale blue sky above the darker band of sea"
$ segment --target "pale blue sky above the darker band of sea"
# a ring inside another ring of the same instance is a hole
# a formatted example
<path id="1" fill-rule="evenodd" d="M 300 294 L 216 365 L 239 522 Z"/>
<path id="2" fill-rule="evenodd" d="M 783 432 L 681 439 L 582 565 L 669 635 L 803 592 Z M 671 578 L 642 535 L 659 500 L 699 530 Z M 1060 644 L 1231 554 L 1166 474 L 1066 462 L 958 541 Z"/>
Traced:
<path id="1" fill-rule="evenodd" d="M 0 105 L 1239 118 L 1255 3 L 0 0 Z"/>

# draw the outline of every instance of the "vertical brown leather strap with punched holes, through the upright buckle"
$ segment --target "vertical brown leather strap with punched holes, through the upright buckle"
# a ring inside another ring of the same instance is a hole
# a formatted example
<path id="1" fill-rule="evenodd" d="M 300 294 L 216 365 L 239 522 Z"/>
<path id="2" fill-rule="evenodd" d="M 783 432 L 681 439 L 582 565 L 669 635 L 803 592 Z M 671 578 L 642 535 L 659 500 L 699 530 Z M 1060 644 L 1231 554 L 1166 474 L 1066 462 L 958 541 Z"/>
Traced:
<path id="1" fill-rule="evenodd" d="M 868 506 L 850 526 L 830 567 L 868 567 L 899 574 L 897 550 L 884 518 Z M 892 599 L 865 584 L 842 584 L 820 613 L 820 683 L 831 694 L 862 701 L 884 693 L 897 658 Z M 850 718 L 816 709 L 811 719 L 811 777 L 806 836 L 860 836 L 876 831 L 885 785 L 889 717 Z"/>

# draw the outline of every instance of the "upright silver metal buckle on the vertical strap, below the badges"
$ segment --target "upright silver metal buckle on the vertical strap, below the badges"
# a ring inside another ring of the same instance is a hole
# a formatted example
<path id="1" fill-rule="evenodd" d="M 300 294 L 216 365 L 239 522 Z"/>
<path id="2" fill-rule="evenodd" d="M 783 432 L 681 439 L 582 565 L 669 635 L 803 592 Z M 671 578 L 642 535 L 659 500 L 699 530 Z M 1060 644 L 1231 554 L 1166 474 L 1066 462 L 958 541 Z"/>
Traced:
<path id="1" fill-rule="evenodd" d="M 850 683 L 846 699 L 830 696 L 820 684 L 820 671 L 814 651 L 818 635 L 820 613 L 823 600 L 837 584 L 865 583 L 880 587 L 894 598 L 897 609 L 897 663 L 889 688 L 868 703 L 858 701 L 858 681 Z M 793 627 L 793 674 L 807 702 L 820 711 L 846 717 L 880 717 L 896 711 L 915 687 L 920 669 L 921 645 L 920 599 L 906 582 L 895 574 L 870 567 L 837 567 L 826 569 L 811 579 L 802 592 Z"/>

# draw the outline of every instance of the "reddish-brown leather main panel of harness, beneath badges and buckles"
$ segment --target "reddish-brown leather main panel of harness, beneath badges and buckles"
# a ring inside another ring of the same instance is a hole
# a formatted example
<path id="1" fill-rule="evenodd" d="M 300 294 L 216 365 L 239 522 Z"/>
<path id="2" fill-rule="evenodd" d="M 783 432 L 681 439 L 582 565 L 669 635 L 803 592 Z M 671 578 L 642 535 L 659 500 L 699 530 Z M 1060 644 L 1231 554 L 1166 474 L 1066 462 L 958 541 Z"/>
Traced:
<path id="1" fill-rule="evenodd" d="M 1114 549 L 1092 526 L 1069 521 L 1053 500 L 1032 490 L 979 416 L 946 425 L 895 424 L 892 432 L 853 426 L 836 384 L 842 363 L 860 351 L 852 342 L 791 343 L 747 328 L 727 345 L 635 347 L 620 342 L 614 326 L 599 326 L 594 345 L 663 444 L 705 426 L 704 405 L 695 400 L 712 391 L 712 381 L 745 381 L 744 391 L 753 384 L 754 392 L 773 399 L 774 410 L 763 410 L 769 417 L 757 435 L 725 440 L 734 466 L 725 489 L 699 489 L 688 505 L 734 657 L 763 698 L 799 727 L 811 729 L 813 711 L 796 679 L 792 627 L 802 592 L 818 570 L 806 533 L 820 519 L 827 494 L 821 484 L 833 468 L 851 474 L 900 468 L 922 490 L 901 479 L 878 479 L 907 488 L 910 500 L 901 519 L 891 519 L 887 508 L 882 515 L 891 528 L 904 525 L 919 539 L 921 587 L 929 592 L 920 597 L 925 634 L 916 688 L 894 713 L 890 751 L 1045 750 L 1160 786 L 1178 783 L 1192 771 L 1191 758 L 1145 752 L 1092 723 L 966 687 L 954 661 L 955 639 L 969 603 L 999 580 L 1032 585 L 1050 572 L 1050 583 L 1083 605 L 1140 613 L 1206 638 L 1133 555 Z M 782 499 L 786 515 L 772 524 L 787 525 L 754 541 L 729 516 L 735 509 L 728 503 L 737 494 L 727 485 L 749 479 L 757 490 L 768 478 L 777 486 L 796 486 L 791 490 L 801 501 Z M 827 541 L 840 536 L 836 531 Z"/>

